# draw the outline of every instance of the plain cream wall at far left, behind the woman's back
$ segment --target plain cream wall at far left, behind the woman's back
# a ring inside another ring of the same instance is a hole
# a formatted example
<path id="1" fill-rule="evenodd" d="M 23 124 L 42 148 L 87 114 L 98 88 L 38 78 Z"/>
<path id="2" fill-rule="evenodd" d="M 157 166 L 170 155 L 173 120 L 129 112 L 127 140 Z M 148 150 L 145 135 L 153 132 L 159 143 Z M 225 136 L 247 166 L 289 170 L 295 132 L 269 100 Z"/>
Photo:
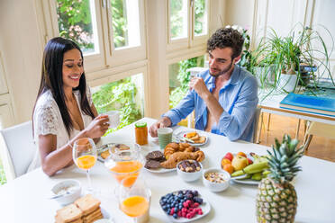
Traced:
<path id="1" fill-rule="evenodd" d="M 33 0 L 0 1 L 0 53 L 14 123 L 30 120 L 41 76 L 42 44 Z"/>

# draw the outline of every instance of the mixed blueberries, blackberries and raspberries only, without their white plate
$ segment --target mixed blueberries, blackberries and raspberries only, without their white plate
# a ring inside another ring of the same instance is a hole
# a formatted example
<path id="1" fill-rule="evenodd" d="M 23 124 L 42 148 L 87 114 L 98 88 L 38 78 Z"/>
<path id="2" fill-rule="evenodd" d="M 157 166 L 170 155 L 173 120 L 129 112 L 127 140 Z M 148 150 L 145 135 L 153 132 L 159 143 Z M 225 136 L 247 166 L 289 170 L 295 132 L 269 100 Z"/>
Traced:
<path id="1" fill-rule="evenodd" d="M 203 215 L 200 207 L 203 202 L 199 192 L 190 190 L 170 192 L 159 200 L 162 210 L 174 219 L 193 219 L 196 215 Z"/>

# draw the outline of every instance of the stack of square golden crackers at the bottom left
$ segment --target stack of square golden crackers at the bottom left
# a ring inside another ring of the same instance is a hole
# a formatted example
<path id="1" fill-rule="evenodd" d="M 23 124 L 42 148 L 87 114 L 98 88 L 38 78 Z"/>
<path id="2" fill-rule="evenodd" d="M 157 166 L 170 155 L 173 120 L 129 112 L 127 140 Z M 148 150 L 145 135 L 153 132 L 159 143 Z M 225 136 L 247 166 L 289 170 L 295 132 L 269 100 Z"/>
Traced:
<path id="1" fill-rule="evenodd" d="M 91 194 L 87 194 L 74 203 L 57 210 L 56 223 L 92 223 L 97 219 L 103 219 L 100 203 Z"/>

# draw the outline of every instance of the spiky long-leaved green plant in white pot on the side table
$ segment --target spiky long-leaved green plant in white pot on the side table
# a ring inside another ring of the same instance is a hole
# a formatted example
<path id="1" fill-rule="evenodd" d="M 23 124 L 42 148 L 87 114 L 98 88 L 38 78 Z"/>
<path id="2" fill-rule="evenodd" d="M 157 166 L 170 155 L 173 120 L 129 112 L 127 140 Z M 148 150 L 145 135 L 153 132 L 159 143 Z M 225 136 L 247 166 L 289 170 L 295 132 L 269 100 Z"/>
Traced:
<path id="1" fill-rule="evenodd" d="M 329 31 L 328 33 L 330 34 Z M 291 31 L 286 37 L 278 36 L 276 31 L 271 29 L 265 42 L 261 42 L 260 49 L 261 57 L 258 58 L 262 59 L 258 64 L 271 71 L 271 76 L 262 76 L 268 80 L 267 87 L 290 93 L 294 92 L 299 83 L 307 85 L 310 78 L 316 85 L 320 76 L 329 76 L 335 85 L 330 73 L 330 51 L 319 32 L 311 28 L 304 27 L 302 31 Z M 313 68 L 310 72 L 306 72 L 305 67 Z"/>

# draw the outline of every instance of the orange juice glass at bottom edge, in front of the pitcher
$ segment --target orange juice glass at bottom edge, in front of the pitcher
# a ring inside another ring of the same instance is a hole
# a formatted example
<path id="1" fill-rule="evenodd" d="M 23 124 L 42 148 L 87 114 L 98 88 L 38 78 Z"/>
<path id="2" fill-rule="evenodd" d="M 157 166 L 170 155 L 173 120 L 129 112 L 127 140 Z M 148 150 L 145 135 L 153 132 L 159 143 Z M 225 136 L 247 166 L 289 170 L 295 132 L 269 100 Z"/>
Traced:
<path id="1" fill-rule="evenodd" d="M 150 197 L 151 191 L 140 177 L 126 176 L 119 185 L 119 208 L 124 214 L 134 219 L 135 223 L 149 220 Z"/>

